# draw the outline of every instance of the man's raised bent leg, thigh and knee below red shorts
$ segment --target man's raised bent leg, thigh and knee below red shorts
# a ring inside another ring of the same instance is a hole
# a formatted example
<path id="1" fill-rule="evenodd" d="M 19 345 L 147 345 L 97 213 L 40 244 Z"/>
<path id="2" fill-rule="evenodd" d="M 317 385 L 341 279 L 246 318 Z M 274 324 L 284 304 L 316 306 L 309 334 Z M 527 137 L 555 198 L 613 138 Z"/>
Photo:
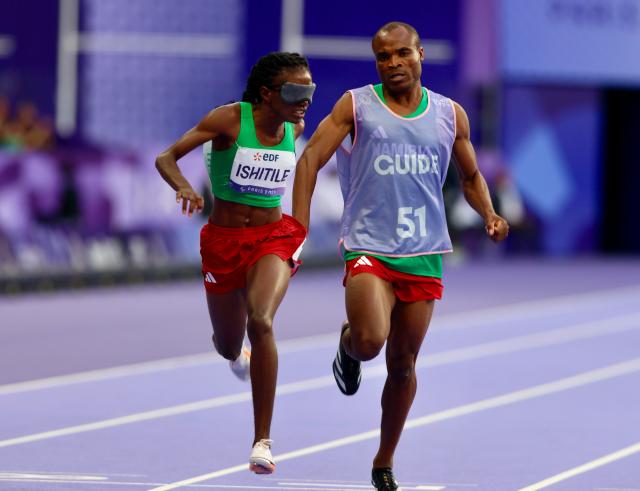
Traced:
<path id="1" fill-rule="evenodd" d="M 349 356 L 366 361 L 378 355 L 389 335 L 395 301 L 389 282 L 369 273 L 349 275 L 345 289 L 349 328 L 342 335 Z"/>

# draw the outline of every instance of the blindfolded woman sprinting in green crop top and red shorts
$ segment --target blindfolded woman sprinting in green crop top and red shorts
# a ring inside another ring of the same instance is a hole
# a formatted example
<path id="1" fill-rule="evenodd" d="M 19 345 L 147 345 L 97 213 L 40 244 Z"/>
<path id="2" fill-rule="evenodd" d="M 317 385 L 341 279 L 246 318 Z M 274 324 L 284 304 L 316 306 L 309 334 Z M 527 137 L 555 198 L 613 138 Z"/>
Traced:
<path id="1" fill-rule="evenodd" d="M 251 377 L 255 437 L 249 468 L 258 474 L 275 469 L 269 434 L 278 370 L 273 318 L 306 236 L 299 222 L 282 213 L 280 200 L 314 89 L 302 56 L 263 56 L 242 102 L 213 109 L 156 159 L 182 213 L 192 216 L 204 200 L 177 161 L 211 142 L 205 163 L 214 204 L 200 233 L 202 274 L 215 349 L 239 378 Z M 251 352 L 243 346 L 245 331 Z"/>

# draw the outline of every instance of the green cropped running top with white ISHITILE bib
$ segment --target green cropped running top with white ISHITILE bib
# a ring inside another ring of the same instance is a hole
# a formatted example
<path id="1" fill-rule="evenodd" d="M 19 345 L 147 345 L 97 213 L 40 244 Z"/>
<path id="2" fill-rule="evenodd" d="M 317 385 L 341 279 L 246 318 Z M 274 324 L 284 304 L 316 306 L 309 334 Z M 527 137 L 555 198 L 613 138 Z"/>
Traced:
<path id="1" fill-rule="evenodd" d="M 203 146 L 205 166 L 213 195 L 225 201 L 261 208 L 280 206 L 287 179 L 296 166 L 295 129 L 284 123 L 282 141 L 272 147 L 256 136 L 252 106 L 240 102 L 240 132 L 226 150 Z"/>

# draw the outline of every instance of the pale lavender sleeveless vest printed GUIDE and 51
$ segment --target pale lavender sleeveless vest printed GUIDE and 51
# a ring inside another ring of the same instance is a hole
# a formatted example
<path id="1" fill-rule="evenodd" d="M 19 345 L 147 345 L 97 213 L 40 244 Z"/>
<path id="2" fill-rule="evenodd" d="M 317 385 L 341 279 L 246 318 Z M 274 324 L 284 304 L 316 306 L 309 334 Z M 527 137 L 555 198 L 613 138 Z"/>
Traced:
<path id="1" fill-rule="evenodd" d="M 451 252 L 442 186 L 455 140 L 453 102 L 429 91 L 427 109 L 403 118 L 371 85 L 350 92 L 354 141 L 338 152 L 345 249 L 389 257 Z"/>

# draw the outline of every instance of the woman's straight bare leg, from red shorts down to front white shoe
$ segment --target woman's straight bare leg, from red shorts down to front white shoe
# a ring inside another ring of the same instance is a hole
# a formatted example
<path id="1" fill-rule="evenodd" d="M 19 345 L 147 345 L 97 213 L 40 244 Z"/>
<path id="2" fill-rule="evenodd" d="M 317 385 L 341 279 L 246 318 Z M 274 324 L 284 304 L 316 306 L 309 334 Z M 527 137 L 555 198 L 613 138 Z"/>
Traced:
<path id="1" fill-rule="evenodd" d="M 247 276 L 247 333 L 251 341 L 251 390 L 255 425 L 254 443 L 269 438 L 278 373 L 273 318 L 282 302 L 291 268 L 278 256 L 258 260 Z"/>

